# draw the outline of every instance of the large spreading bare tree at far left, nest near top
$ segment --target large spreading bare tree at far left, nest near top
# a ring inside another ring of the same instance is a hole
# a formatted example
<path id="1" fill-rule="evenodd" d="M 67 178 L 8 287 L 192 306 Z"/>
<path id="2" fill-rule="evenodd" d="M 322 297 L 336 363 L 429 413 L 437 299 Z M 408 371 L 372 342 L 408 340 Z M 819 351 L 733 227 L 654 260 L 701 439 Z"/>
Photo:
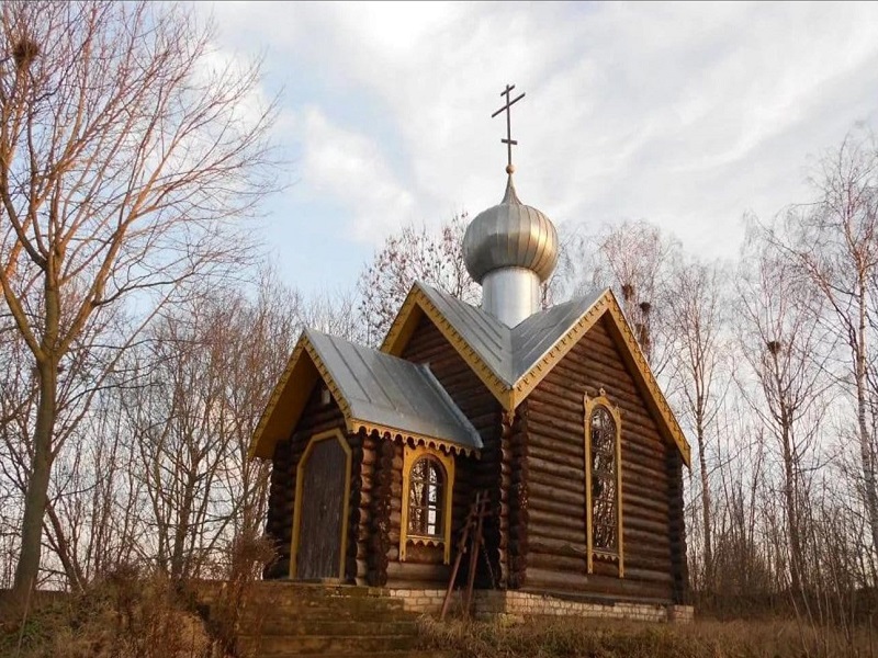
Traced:
<path id="1" fill-rule="evenodd" d="M 37 387 L 22 593 L 41 563 L 65 360 L 114 307 L 239 259 L 225 220 L 273 186 L 273 111 L 255 102 L 257 66 L 209 65 L 210 31 L 180 5 L 7 2 L 0 44 L 0 287 Z"/>

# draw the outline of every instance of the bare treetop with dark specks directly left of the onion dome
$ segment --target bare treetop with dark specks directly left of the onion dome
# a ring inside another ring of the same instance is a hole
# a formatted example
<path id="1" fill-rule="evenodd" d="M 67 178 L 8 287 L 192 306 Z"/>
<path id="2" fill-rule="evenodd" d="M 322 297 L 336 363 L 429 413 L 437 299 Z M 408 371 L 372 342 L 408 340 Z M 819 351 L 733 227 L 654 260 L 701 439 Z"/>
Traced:
<path id="1" fill-rule="evenodd" d="M 383 340 L 416 281 L 471 304 L 481 299 L 481 287 L 470 277 L 463 262 L 466 224 L 466 215 L 455 215 L 442 225 L 438 235 L 425 226 L 409 225 L 384 241 L 357 283 L 368 344 Z"/>

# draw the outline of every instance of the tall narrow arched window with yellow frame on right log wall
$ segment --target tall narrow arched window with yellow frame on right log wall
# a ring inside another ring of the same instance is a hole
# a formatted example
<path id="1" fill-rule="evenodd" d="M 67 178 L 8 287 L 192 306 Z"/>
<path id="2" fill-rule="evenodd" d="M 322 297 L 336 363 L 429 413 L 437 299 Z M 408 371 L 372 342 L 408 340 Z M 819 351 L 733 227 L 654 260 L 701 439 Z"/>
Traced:
<path id="1" fill-rule="evenodd" d="M 622 542 L 622 443 L 619 409 L 604 389 L 585 396 L 585 498 L 588 572 L 596 559 L 619 566 L 624 576 Z"/>

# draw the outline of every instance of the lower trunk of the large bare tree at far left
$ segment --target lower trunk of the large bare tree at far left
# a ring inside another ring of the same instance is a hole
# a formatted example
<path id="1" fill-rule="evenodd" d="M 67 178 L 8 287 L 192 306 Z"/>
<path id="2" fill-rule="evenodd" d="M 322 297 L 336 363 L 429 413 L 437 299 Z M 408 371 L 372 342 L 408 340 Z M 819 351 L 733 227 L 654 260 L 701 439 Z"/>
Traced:
<path id="1" fill-rule="evenodd" d="M 55 427 L 57 394 L 57 366 L 50 361 L 38 364 L 40 401 L 34 429 L 34 452 L 31 477 L 24 498 L 24 520 L 21 533 L 21 556 L 15 568 L 15 595 L 27 595 L 36 585 L 43 548 L 43 518 L 48 502 L 48 483 L 52 474 L 52 434 Z"/>

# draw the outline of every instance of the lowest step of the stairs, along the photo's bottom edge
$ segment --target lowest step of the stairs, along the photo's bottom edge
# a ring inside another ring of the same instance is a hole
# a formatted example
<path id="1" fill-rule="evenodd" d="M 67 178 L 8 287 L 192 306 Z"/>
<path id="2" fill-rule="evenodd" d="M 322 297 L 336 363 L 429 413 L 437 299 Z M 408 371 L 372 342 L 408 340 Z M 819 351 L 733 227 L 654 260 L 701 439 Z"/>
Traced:
<path id="1" fill-rule="evenodd" d="M 345 656 L 363 653 L 410 651 L 417 648 L 414 635 L 264 635 L 238 637 L 240 653 L 259 658 L 281 658 L 282 656 L 339 654 Z"/>

